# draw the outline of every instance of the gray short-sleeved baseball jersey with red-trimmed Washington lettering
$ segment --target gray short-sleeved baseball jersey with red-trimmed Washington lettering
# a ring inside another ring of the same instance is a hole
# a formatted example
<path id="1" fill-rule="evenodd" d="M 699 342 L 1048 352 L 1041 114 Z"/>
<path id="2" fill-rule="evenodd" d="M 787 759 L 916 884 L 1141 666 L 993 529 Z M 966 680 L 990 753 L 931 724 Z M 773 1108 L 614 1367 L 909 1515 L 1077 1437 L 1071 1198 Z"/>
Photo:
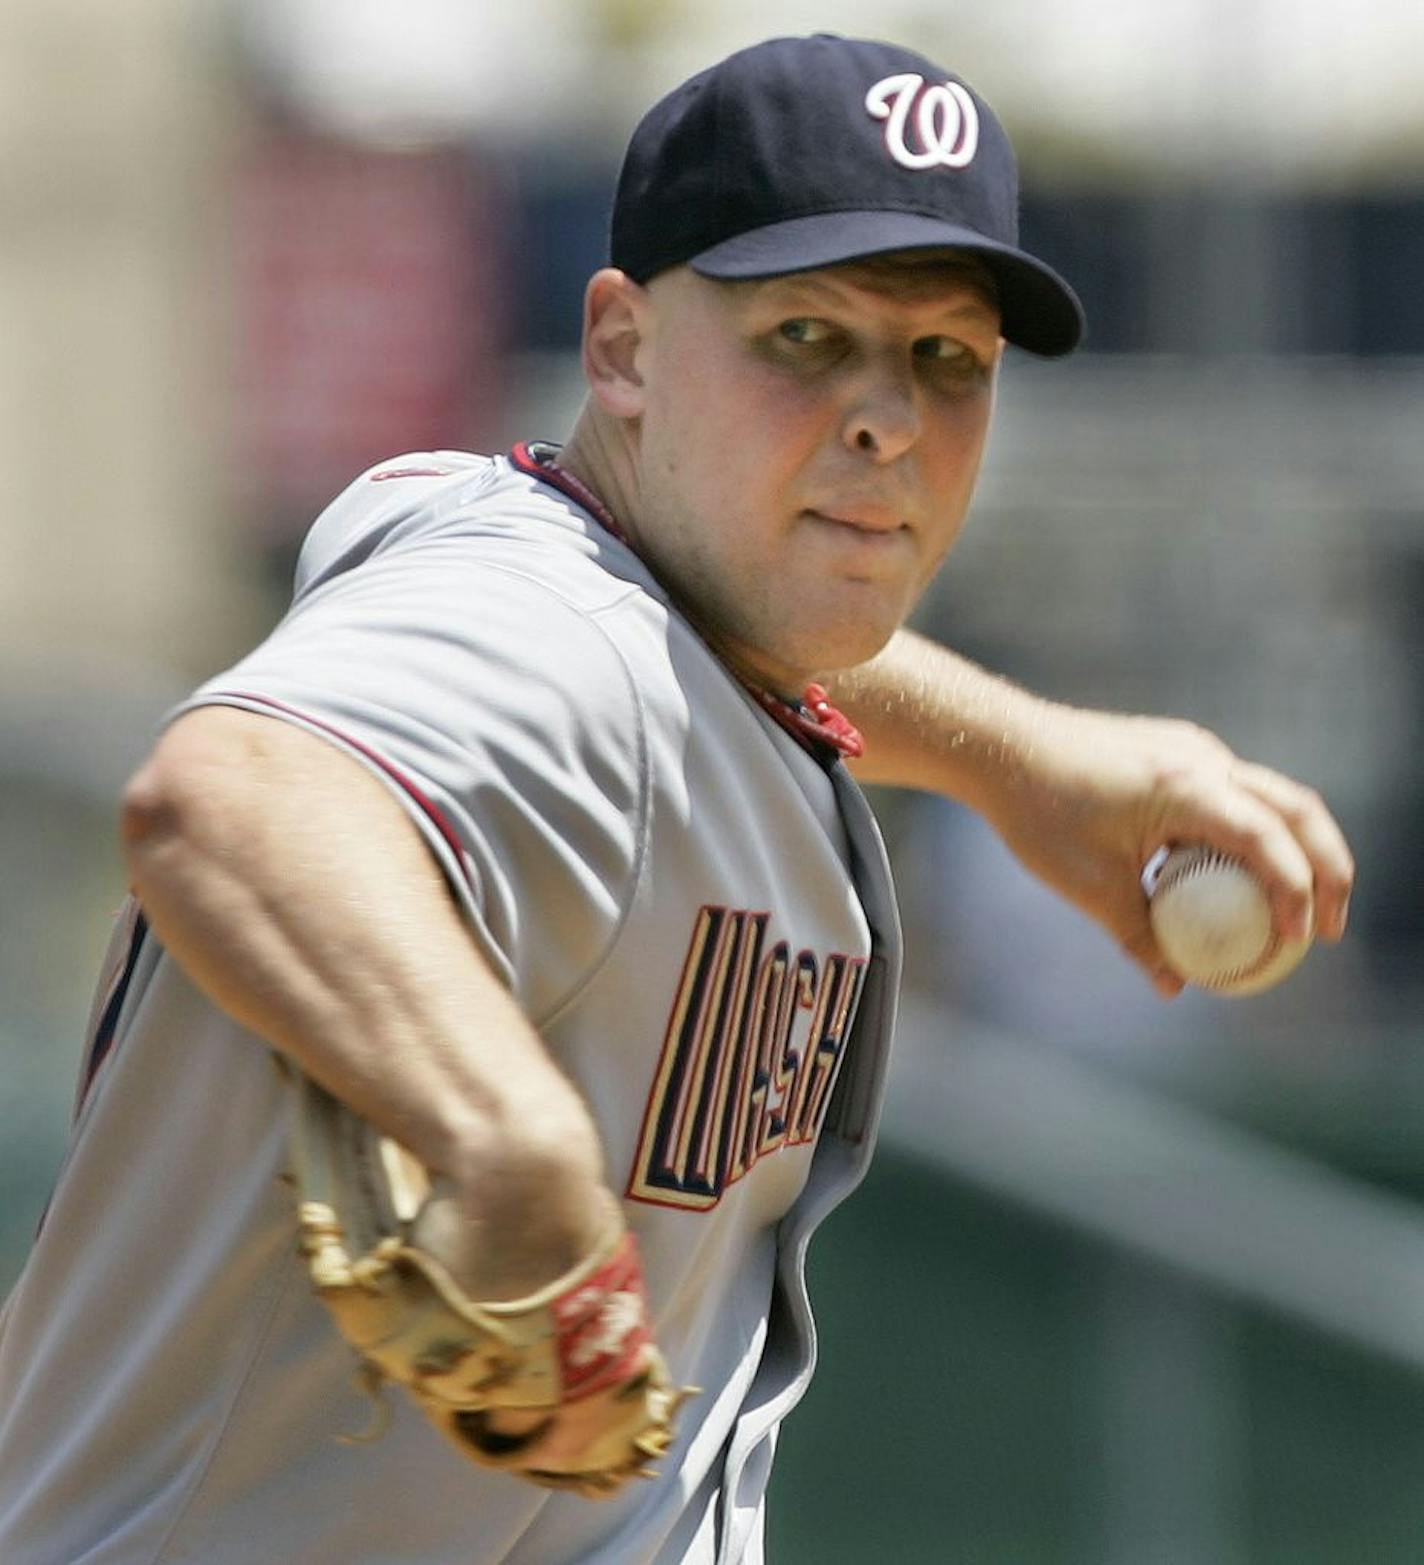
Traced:
<path id="1" fill-rule="evenodd" d="M 368 1407 L 294 1252 L 288 1089 L 130 906 L 3 1318 L 6 1565 L 761 1559 L 815 1354 L 806 1244 L 873 1139 L 889 873 L 832 751 L 563 482 L 527 448 L 374 468 L 313 527 L 280 626 L 188 706 L 341 747 L 424 833 L 588 1100 L 659 1346 L 706 1388 L 662 1476 L 545 1493 L 399 1394 L 380 1440 L 343 1441 Z"/>

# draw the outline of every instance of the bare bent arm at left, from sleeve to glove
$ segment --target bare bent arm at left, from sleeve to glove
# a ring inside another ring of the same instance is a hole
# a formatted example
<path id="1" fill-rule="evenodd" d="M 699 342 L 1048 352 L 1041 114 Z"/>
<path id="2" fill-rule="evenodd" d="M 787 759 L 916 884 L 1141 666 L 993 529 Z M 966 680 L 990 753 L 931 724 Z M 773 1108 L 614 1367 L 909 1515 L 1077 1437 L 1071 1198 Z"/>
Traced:
<path id="1" fill-rule="evenodd" d="M 474 1297 L 527 1294 L 593 1249 L 617 1200 L 588 1111 L 360 762 L 199 707 L 128 784 L 122 836 L 194 983 L 443 1177 Z"/>

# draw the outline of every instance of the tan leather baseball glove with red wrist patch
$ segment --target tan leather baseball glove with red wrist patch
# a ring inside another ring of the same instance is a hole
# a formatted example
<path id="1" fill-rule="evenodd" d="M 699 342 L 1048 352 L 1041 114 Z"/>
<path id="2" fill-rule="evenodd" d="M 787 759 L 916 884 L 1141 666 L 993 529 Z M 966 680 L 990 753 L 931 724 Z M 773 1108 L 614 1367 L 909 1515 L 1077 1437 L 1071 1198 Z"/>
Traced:
<path id="1" fill-rule="evenodd" d="M 618 1222 L 526 1299 L 480 1304 L 416 1243 L 426 1171 L 315 1081 L 294 1086 L 293 1164 L 311 1282 L 372 1394 L 404 1385 L 471 1460 L 592 1499 L 674 1437 L 673 1385 L 648 1327 L 643 1268 Z"/>

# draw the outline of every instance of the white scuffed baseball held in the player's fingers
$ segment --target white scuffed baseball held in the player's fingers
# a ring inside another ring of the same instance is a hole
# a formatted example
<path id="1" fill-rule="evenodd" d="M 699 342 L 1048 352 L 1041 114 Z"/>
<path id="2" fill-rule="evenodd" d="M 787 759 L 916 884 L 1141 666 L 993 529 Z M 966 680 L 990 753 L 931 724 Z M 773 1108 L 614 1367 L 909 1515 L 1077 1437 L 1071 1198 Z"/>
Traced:
<path id="1" fill-rule="evenodd" d="M 1161 848 L 1142 872 L 1156 944 L 1186 983 L 1217 994 L 1260 994 L 1310 950 L 1310 936 L 1277 937 L 1264 886 L 1241 862 L 1202 844 Z"/>

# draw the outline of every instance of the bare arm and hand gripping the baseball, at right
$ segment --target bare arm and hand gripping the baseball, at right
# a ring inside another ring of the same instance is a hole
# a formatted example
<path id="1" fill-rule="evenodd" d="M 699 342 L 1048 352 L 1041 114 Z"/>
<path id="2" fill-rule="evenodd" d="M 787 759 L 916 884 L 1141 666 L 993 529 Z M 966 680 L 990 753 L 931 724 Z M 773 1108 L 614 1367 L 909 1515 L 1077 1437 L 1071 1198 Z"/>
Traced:
<path id="1" fill-rule="evenodd" d="M 984 815 L 1045 884 L 1099 920 L 1177 994 L 1147 922 L 1141 872 L 1167 842 L 1208 842 L 1266 883 L 1285 937 L 1338 941 L 1355 865 L 1310 787 L 1175 718 L 1063 706 L 901 631 L 825 681 L 865 736 L 862 782 L 919 787 Z"/>

